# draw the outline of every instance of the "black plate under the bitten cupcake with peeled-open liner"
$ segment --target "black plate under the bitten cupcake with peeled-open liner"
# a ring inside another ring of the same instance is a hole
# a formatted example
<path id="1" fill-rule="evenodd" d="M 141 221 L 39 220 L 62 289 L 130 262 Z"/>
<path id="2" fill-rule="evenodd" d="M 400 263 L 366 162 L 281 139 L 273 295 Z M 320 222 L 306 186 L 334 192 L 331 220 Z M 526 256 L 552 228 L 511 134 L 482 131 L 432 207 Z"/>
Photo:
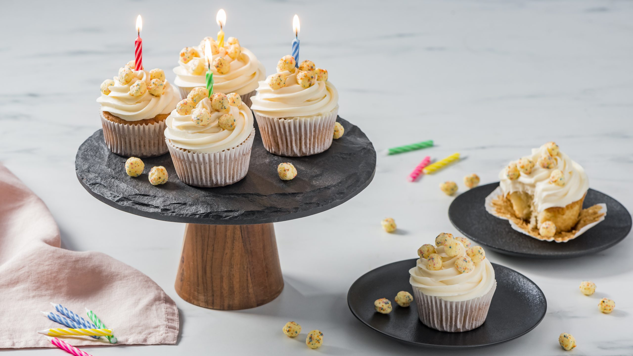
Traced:
<path id="1" fill-rule="evenodd" d="M 583 208 L 606 203 L 603 222 L 566 243 L 531 238 L 512 229 L 508 220 L 486 211 L 484 200 L 498 186 L 499 182 L 496 182 L 461 193 L 448 208 L 448 218 L 467 238 L 499 253 L 531 258 L 580 257 L 610 248 L 627 237 L 631 229 L 630 213 L 622 204 L 589 189 Z"/>

